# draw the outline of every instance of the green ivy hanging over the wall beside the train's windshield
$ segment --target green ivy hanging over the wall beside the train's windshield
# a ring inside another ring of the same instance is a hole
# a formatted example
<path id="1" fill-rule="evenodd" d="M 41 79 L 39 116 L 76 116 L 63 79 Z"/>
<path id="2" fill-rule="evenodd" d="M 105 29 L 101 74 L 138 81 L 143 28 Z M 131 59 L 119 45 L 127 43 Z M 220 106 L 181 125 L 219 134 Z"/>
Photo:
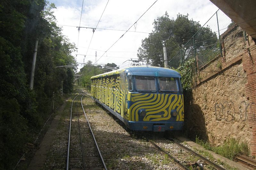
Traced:
<path id="1" fill-rule="evenodd" d="M 193 82 L 194 82 L 194 76 L 195 76 L 195 59 L 192 58 L 182 65 L 180 65 L 179 68 L 177 68 L 177 71 L 180 72 L 181 75 L 181 84 L 183 89 L 186 92 L 190 92 L 193 87 Z"/>

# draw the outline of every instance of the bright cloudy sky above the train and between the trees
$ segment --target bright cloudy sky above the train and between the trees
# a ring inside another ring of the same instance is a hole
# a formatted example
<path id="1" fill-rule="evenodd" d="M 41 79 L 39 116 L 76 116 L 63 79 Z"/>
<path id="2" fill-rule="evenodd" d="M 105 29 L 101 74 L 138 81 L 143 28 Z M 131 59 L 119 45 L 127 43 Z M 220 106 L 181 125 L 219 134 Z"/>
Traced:
<path id="1" fill-rule="evenodd" d="M 83 0 L 49 0 L 49 2 L 57 7 L 54 9 L 54 15 L 58 26 L 62 27 L 62 34 L 78 48 L 72 53 L 77 63 L 80 63 L 78 71 L 83 67 L 81 63 L 87 63 L 89 60 L 95 63 L 96 52 L 97 64 L 115 63 L 120 68 L 130 66 L 129 60 L 138 59 L 137 50 L 141 46 L 141 41 L 152 32 L 154 19 L 163 16 L 165 11 L 173 19 L 178 13 L 184 15 L 188 13 L 189 19 L 204 25 L 218 10 L 209 0 L 158 0 L 157 2 L 156 0 L 84 0 L 84 3 Z M 154 5 L 149 8 L 152 4 Z M 146 13 L 142 16 L 144 12 Z M 77 28 L 79 26 L 80 31 Z M 94 33 L 92 28 L 96 28 Z M 125 33 L 128 29 L 129 31 Z M 120 38 L 123 34 L 124 36 Z"/>

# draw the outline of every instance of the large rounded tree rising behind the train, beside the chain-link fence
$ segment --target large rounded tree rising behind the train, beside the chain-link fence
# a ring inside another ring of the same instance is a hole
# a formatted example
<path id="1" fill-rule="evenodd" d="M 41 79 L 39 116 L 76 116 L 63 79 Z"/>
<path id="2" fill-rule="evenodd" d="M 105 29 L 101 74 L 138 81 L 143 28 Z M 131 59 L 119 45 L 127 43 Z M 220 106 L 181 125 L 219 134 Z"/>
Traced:
<path id="1" fill-rule="evenodd" d="M 137 53 L 139 60 L 144 60 L 152 66 L 164 66 L 163 46 L 167 49 L 168 66 L 177 68 L 180 60 L 184 61 L 194 51 L 197 52 L 203 47 L 212 48 L 217 41 L 216 34 L 209 27 L 201 28 L 199 22 L 188 19 L 188 14 L 179 13 L 174 20 L 165 12 L 154 20 L 153 25 L 154 30 L 142 40 Z M 197 36 L 194 36 L 195 33 Z M 191 39 L 194 39 L 195 43 L 190 41 Z M 179 51 L 181 57 L 177 58 Z"/>

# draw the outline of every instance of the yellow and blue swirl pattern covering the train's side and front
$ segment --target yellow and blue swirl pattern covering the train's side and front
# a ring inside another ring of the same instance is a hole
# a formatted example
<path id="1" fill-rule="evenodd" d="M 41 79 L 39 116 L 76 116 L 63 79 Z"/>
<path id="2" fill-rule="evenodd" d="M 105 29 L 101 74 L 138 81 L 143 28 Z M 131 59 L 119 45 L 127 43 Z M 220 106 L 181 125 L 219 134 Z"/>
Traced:
<path id="1" fill-rule="evenodd" d="M 126 89 L 122 89 L 122 81 Z M 134 93 L 127 92 L 127 88 L 126 80 L 106 76 L 92 79 L 91 94 L 129 121 L 139 121 L 140 109 L 146 110 L 143 121 L 184 121 L 182 94 Z M 172 117 L 172 110 L 177 110 L 177 117 Z"/>

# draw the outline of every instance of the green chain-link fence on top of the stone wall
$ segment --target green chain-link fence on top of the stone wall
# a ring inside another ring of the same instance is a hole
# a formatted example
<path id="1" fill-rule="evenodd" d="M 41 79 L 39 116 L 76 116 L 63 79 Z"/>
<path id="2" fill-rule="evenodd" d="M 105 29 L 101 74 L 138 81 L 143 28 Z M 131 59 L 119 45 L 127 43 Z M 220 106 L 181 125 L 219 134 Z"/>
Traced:
<path id="1" fill-rule="evenodd" d="M 188 42 L 181 45 L 179 52 L 169 62 L 171 68 L 176 69 L 187 60 L 195 58 L 196 68 L 200 69 L 216 57 L 222 56 L 221 35 L 232 24 L 225 13 L 216 11 Z"/>

